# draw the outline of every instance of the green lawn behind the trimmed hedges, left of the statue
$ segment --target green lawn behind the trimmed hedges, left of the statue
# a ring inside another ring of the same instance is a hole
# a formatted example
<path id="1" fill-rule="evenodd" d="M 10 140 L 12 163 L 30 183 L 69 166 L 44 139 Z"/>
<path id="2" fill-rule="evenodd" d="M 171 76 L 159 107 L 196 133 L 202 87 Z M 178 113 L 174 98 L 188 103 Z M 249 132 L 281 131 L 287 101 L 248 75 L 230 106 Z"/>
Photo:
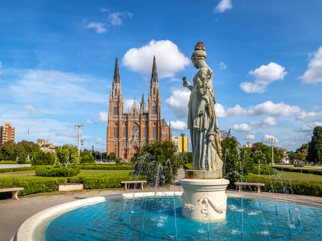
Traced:
<path id="1" fill-rule="evenodd" d="M 128 172 L 132 170 L 81 170 L 81 173 L 78 175 L 100 175 L 100 174 L 109 174 L 109 173 L 119 173 L 119 172 Z M 37 177 L 35 170 L 29 171 L 19 171 L 19 172 L 4 172 L 0 173 L 0 177 Z"/>

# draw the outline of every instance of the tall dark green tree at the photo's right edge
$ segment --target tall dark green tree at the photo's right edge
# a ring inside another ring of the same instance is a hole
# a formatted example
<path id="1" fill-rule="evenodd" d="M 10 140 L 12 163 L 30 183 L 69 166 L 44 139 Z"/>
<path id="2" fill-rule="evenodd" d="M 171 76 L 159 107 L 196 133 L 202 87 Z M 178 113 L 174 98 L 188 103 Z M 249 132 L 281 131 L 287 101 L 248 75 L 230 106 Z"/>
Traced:
<path id="1" fill-rule="evenodd" d="M 316 163 L 322 162 L 322 127 L 315 127 L 313 136 L 307 149 L 307 161 Z"/>

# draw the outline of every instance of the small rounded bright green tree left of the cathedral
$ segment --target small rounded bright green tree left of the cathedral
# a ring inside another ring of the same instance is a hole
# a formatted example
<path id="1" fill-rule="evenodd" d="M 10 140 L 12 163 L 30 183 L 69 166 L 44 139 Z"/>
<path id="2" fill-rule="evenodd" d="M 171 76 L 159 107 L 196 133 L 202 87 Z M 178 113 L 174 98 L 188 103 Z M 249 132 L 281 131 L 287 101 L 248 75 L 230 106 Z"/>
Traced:
<path id="1" fill-rule="evenodd" d="M 70 167 L 78 163 L 78 149 L 73 145 L 63 145 L 56 151 L 57 165 Z"/>

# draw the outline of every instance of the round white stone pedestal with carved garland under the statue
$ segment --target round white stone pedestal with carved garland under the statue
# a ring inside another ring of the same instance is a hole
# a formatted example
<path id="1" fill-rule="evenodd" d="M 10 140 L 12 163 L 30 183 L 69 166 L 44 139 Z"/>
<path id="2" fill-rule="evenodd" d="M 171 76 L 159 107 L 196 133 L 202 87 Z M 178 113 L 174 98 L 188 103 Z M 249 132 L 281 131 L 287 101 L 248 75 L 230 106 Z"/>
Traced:
<path id="1" fill-rule="evenodd" d="M 186 178 L 179 180 L 183 188 L 182 212 L 186 218 L 215 221 L 226 217 L 227 196 L 225 190 L 229 180 L 220 178 L 222 174 L 219 175 L 219 172 L 221 171 L 186 170 Z M 207 175 L 219 175 L 219 178 L 196 178 Z M 187 178 L 189 176 L 194 178 Z"/>

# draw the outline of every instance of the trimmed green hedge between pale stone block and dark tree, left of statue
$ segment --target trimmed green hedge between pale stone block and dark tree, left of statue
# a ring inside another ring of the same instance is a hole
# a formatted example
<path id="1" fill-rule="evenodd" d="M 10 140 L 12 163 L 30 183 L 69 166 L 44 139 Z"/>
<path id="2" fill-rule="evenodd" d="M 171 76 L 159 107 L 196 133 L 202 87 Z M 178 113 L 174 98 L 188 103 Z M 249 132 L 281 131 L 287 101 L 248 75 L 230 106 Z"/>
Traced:
<path id="1" fill-rule="evenodd" d="M 130 173 L 110 173 L 101 175 L 79 175 L 68 178 L 68 182 L 81 182 L 85 189 L 101 189 L 122 187 L 120 181 L 130 180 Z M 131 180 L 146 180 L 144 176 L 133 174 Z"/>

